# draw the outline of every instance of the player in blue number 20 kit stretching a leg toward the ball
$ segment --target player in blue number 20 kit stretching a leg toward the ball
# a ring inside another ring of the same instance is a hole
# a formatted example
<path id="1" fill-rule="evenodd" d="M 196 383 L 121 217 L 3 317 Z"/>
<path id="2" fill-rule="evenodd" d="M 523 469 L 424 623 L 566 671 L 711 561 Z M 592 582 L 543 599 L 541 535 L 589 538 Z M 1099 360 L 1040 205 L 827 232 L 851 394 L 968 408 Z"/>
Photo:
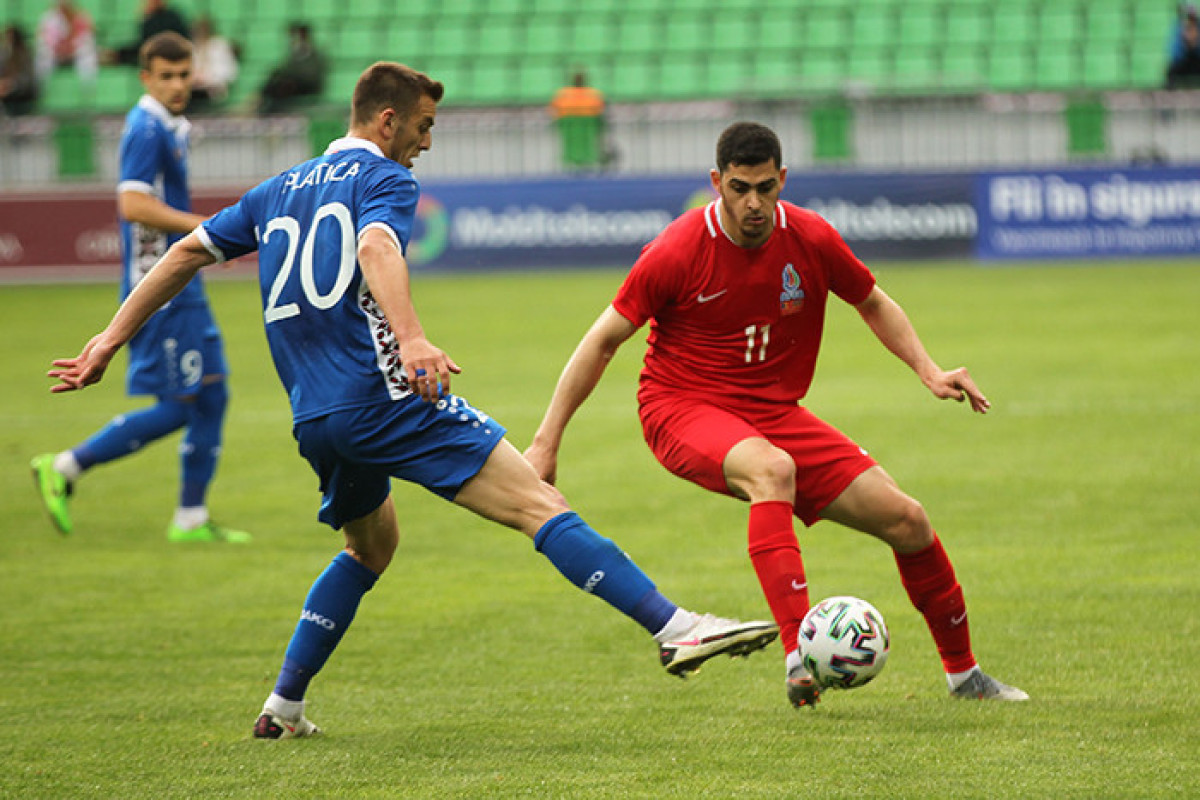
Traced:
<path id="1" fill-rule="evenodd" d="M 354 89 L 346 138 L 173 246 L 108 327 L 49 373 L 59 379 L 54 392 L 98 381 L 116 350 L 200 267 L 258 251 L 266 339 L 300 453 L 320 479 L 318 516 L 346 536 L 346 549 L 308 593 L 254 724 L 258 738 L 318 733 L 305 717 L 308 682 L 396 551 L 391 477 L 533 539 L 571 583 L 650 632 L 671 674 L 758 650 L 779 632 L 772 622 L 694 614 L 667 600 L 538 477 L 503 426 L 450 392 L 460 368 L 426 338 L 404 260 L 420 193 L 409 169 L 431 145 L 442 94 L 440 83 L 406 66 L 368 67 Z"/>

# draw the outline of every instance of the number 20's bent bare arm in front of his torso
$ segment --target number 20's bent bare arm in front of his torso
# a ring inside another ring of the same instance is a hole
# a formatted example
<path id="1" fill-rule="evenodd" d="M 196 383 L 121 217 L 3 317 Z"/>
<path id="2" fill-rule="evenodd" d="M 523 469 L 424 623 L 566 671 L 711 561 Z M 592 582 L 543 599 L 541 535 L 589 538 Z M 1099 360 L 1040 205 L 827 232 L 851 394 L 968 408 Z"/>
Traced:
<path id="1" fill-rule="evenodd" d="M 396 335 L 408 384 L 426 401 L 437 402 L 439 393 L 450 391 L 450 373 L 462 369 L 425 338 L 413 306 L 408 261 L 382 228 L 368 228 L 359 236 L 358 257 L 371 295 Z"/>

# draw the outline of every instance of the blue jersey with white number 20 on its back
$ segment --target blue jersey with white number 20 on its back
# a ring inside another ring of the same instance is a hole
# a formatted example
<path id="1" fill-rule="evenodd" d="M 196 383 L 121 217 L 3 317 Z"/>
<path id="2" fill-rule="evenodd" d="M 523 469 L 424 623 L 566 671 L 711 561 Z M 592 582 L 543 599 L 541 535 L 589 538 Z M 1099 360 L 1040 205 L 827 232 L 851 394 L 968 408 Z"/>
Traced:
<path id="1" fill-rule="evenodd" d="M 404 252 L 419 194 L 407 168 L 371 142 L 346 138 L 198 229 L 220 259 L 258 251 L 266 342 L 295 422 L 412 393 L 356 253 L 370 228 Z"/>

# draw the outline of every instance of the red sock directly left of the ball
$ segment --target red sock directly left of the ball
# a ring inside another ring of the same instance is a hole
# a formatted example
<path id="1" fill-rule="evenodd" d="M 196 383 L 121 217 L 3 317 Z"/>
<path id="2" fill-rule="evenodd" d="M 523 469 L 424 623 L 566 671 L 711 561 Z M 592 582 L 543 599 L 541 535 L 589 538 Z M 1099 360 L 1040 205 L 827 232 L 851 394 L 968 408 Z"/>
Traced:
<path id="1" fill-rule="evenodd" d="M 750 506 L 750 561 L 779 625 L 784 651 L 791 652 L 809 610 L 809 582 L 792 528 L 791 503 L 767 500 Z"/>

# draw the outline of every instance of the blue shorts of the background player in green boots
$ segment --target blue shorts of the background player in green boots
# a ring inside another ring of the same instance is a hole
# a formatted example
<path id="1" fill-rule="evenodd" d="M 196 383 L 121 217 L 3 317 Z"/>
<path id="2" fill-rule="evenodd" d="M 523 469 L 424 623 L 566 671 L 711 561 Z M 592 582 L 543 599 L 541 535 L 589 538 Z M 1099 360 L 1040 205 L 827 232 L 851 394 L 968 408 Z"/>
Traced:
<path id="1" fill-rule="evenodd" d="M 224 347 L 208 306 L 168 306 L 130 339 L 130 395 L 187 397 L 205 375 L 226 375 Z"/>

